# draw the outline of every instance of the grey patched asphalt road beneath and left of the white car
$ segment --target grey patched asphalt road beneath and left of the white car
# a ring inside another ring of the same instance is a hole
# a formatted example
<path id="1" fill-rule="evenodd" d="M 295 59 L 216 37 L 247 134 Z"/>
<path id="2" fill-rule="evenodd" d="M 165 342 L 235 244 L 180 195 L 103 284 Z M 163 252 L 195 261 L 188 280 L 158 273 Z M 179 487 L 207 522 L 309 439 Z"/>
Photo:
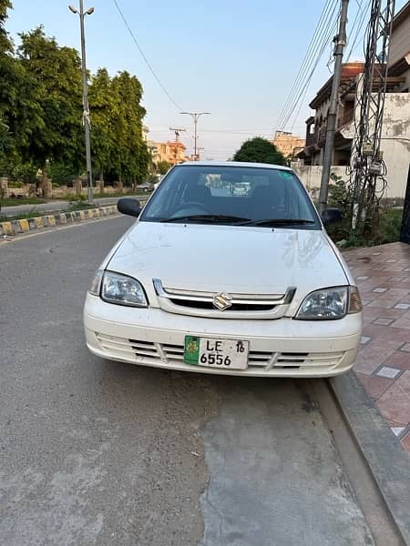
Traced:
<path id="1" fill-rule="evenodd" d="M 312 381 L 88 354 L 87 285 L 131 221 L 0 243 L 0 543 L 373 544 Z"/>

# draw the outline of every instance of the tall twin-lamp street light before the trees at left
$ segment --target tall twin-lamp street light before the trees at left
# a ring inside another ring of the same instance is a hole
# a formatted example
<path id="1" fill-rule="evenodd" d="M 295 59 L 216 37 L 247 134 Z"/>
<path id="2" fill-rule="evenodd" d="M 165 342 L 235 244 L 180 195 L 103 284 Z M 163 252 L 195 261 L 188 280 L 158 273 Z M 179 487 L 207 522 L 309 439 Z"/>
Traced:
<path id="1" fill-rule="evenodd" d="M 83 121 L 86 134 L 86 164 L 87 164 L 87 200 L 93 202 L 93 177 L 91 169 L 91 146 L 89 139 L 89 109 L 88 109 L 88 87 L 87 87 L 87 63 L 86 63 L 86 34 L 84 29 L 84 17 L 94 13 L 94 7 L 88 7 L 84 11 L 83 0 L 79 0 L 79 10 L 74 5 L 68 5 L 73 14 L 78 14 L 81 31 L 81 70 L 83 73 Z"/>

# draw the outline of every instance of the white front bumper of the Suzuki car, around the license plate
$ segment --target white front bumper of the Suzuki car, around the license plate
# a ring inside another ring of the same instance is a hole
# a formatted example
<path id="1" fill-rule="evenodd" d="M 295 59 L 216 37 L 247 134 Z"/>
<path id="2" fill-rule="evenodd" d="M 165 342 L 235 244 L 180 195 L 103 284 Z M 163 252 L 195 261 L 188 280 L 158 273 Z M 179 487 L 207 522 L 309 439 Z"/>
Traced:
<path id="1" fill-rule="evenodd" d="M 128 308 L 87 295 L 88 349 L 103 359 L 165 369 L 253 377 L 331 377 L 354 365 L 360 314 L 340 320 L 203 319 L 160 308 Z M 250 342 L 248 368 L 216 369 L 184 362 L 185 336 Z"/>

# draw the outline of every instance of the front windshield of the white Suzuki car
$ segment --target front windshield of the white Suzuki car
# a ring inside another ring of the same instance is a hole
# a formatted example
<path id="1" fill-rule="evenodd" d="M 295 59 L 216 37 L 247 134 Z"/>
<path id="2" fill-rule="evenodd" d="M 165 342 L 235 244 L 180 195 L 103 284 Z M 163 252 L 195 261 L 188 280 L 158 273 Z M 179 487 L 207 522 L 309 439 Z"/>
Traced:
<path id="1" fill-rule="evenodd" d="M 274 167 L 174 167 L 140 220 L 321 228 L 299 179 Z"/>

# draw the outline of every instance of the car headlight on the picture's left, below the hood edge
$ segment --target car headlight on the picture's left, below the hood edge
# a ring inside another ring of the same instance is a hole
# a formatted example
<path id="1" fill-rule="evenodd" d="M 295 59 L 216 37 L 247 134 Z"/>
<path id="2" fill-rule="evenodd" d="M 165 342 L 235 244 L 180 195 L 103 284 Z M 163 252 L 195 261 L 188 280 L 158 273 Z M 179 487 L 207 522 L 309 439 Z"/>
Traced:
<path id="1" fill-rule="evenodd" d="M 102 278 L 101 298 L 109 303 L 131 307 L 148 307 L 144 288 L 138 280 L 113 271 L 105 271 Z"/>

